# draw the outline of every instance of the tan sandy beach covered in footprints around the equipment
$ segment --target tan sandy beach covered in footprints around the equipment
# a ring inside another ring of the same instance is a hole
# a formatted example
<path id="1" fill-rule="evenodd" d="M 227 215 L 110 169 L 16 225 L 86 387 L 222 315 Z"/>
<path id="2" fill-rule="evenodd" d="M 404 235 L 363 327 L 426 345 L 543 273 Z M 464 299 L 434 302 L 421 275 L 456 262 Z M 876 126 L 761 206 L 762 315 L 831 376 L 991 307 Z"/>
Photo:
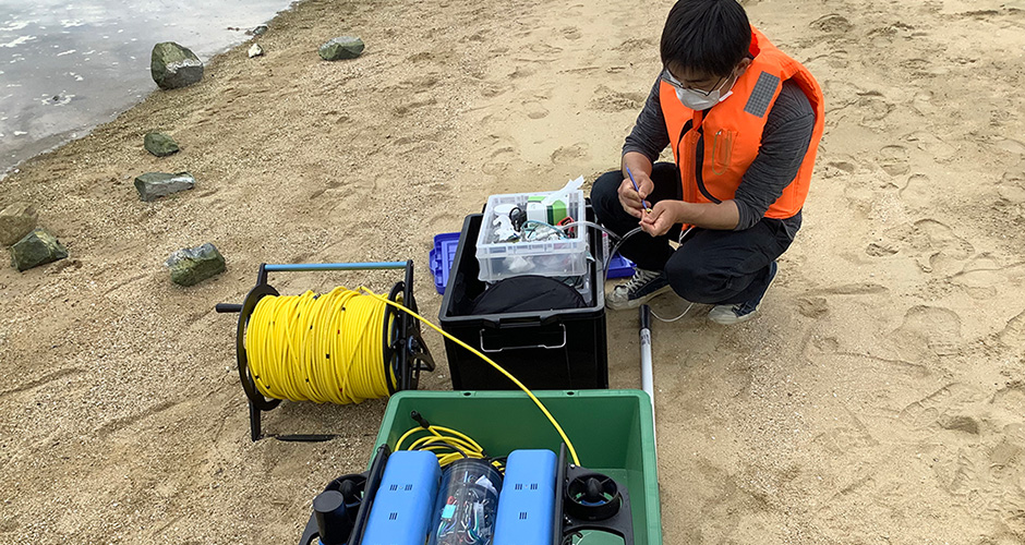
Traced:
<path id="1" fill-rule="evenodd" d="M 744 3 L 822 85 L 825 135 L 758 319 L 654 325 L 664 543 L 1025 543 L 1025 1 Z M 243 44 L 0 181 L 71 254 L 0 268 L 0 543 L 296 543 L 386 400 L 286 402 L 268 427 L 341 437 L 251 443 L 214 305 L 261 263 L 412 258 L 436 318 L 434 234 L 618 165 L 671 5 L 304 0 L 264 57 Z M 342 35 L 365 52 L 321 60 Z M 150 156 L 150 130 L 182 150 Z M 193 191 L 138 199 L 134 177 L 183 170 Z M 204 242 L 228 271 L 171 283 L 164 259 Z M 639 388 L 637 314 L 607 319 L 612 387 Z M 450 389 L 426 339 L 421 388 Z"/>

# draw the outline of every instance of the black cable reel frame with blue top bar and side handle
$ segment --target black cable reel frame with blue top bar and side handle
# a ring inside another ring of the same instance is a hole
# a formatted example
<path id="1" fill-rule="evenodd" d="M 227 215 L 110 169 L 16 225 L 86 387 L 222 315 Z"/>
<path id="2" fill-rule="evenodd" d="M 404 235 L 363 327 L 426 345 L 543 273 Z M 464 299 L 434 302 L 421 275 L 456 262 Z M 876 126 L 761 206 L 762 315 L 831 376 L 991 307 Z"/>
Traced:
<path id="1" fill-rule="evenodd" d="M 292 264 L 269 265 L 261 264 L 256 276 L 256 286 L 250 290 L 242 304 L 220 303 L 216 305 L 218 313 L 239 313 L 236 332 L 236 353 L 239 368 L 239 380 L 249 402 L 250 436 L 253 441 L 263 437 L 261 432 L 261 413 L 274 410 L 281 399 L 266 398 L 256 386 L 256 382 L 249 364 L 249 354 L 245 350 L 245 336 L 249 330 L 250 318 L 260 301 L 268 295 L 280 296 L 280 293 L 269 283 L 269 272 L 299 272 L 299 271 L 333 271 L 333 270 L 379 270 L 405 269 L 402 281 L 396 282 L 388 293 L 388 300 L 401 302 L 409 310 L 418 312 L 417 300 L 413 298 L 413 262 L 379 262 L 379 263 L 323 263 L 323 264 Z M 384 366 L 385 383 L 388 395 L 397 391 L 417 389 L 422 371 L 434 371 L 434 359 L 427 351 L 420 331 L 420 323 L 391 305 L 385 305 L 382 330 L 382 365 Z M 394 379 L 393 379 L 394 377 Z M 333 438 L 333 435 L 274 435 L 280 440 L 318 441 Z"/>

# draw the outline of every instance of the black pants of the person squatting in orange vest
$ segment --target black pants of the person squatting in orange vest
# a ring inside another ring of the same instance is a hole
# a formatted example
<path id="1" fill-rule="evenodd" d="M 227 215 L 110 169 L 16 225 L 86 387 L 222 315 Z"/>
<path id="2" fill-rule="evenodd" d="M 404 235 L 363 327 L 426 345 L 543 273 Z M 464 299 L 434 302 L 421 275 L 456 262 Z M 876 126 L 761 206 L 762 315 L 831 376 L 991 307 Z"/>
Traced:
<path id="1" fill-rule="evenodd" d="M 648 202 L 682 199 L 676 165 L 656 162 L 651 172 L 654 191 Z M 618 234 L 638 227 L 638 219 L 619 204 L 623 173 L 602 174 L 591 189 L 591 206 L 598 220 Z M 691 229 L 677 250 L 670 241 L 680 235 L 679 225 L 662 237 L 637 233 L 619 247 L 619 253 L 648 270 L 665 270 L 679 296 L 694 303 L 737 304 L 760 298 L 769 287 L 769 264 L 789 247 L 793 234 L 779 219 L 762 218 L 750 229 L 720 231 Z"/>

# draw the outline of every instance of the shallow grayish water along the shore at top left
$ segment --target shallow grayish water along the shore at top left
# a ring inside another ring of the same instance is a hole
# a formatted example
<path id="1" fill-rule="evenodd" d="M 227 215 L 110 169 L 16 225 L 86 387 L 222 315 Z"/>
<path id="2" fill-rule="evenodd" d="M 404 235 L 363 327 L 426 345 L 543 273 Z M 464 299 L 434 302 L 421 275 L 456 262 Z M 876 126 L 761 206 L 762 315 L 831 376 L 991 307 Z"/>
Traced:
<path id="1" fill-rule="evenodd" d="M 0 0 L 0 172 L 85 135 L 157 89 L 149 53 L 206 62 L 290 0 Z"/>

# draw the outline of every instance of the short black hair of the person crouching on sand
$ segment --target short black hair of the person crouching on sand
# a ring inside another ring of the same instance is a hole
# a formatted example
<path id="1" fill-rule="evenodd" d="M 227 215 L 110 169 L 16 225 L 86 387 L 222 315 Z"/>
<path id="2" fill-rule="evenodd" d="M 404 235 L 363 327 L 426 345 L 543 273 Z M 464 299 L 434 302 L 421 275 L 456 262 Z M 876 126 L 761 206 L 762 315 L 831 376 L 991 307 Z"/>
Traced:
<path id="1" fill-rule="evenodd" d="M 679 0 L 662 31 L 662 64 L 726 76 L 750 46 L 751 26 L 737 0 Z"/>

